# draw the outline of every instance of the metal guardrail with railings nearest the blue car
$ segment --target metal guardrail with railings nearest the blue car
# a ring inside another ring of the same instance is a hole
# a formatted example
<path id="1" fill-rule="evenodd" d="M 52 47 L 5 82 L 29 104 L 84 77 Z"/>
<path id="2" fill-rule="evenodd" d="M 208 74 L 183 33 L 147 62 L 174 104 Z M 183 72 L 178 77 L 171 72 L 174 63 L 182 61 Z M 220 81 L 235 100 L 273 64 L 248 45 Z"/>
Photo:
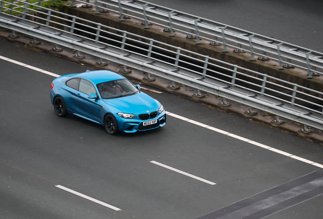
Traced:
<path id="1" fill-rule="evenodd" d="M 83 58 L 83 52 L 145 71 L 148 81 L 154 75 L 170 80 L 170 88 L 176 89 L 177 82 L 196 88 L 197 95 L 204 91 L 220 96 L 222 105 L 230 99 L 249 106 L 248 113 L 254 107 L 323 130 L 321 92 L 47 8 L 24 10 L 19 16 L 5 14 L 3 2 L 0 26 L 33 36 L 31 43 L 45 40 L 56 44 L 57 51 L 57 45 L 77 50 L 77 58 Z"/>

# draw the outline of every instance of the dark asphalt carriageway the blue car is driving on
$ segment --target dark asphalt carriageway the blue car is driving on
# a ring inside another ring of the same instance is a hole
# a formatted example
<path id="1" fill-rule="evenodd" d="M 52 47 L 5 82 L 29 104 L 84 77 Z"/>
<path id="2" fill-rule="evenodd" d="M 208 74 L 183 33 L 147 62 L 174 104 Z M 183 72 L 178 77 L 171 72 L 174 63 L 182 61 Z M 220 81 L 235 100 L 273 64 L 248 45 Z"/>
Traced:
<path id="1" fill-rule="evenodd" d="M 317 143 L 165 92 L 147 92 L 165 127 L 111 136 L 50 103 L 43 72 L 86 67 L 3 40 L 0 56 L 1 218 L 323 217 Z"/>

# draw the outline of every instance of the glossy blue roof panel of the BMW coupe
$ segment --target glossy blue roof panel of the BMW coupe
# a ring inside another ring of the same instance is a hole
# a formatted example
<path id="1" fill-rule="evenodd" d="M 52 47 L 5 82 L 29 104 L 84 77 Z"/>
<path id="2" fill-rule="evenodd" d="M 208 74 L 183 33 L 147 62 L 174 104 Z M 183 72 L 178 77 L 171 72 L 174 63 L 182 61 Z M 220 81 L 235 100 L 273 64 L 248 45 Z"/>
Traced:
<path id="1" fill-rule="evenodd" d="M 124 79 L 123 76 L 109 70 L 86 71 L 86 72 L 77 74 L 75 77 L 86 79 L 95 85 L 103 82 L 107 82 L 107 81 Z"/>

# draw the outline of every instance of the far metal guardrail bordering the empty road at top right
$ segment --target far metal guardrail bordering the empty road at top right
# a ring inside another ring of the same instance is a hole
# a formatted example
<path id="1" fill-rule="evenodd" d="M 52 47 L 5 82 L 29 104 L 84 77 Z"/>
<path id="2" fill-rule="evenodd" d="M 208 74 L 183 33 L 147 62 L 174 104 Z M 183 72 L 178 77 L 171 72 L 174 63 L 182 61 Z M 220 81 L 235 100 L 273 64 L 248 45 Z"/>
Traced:
<path id="1" fill-rule="evenodd" d="M 200 39 L 206 40 L 211 45 L 222 46 L 222 52 L 231 47 L 238 53 L 250 53 L 250 60 L 255 60 L 255 55 L 260 60 L 270 58 L 279 63 L 278 69 L 296 67 L 307 71 L 308 79 L 323 75 L 323 53 L 268 36 L 141 0 L 72 0 L 73 6 L 75 2 L 95 7 L 96 13 L 105 10 L 119 13 L 120 21 L 125 18 L 140 20 L 145 28 L 156 24 L 169 31 L 171 36 L 175 35 L 174 31 L 187 34 L 188 38 L 196 38 L 197 44 L 201 44 Z"/>

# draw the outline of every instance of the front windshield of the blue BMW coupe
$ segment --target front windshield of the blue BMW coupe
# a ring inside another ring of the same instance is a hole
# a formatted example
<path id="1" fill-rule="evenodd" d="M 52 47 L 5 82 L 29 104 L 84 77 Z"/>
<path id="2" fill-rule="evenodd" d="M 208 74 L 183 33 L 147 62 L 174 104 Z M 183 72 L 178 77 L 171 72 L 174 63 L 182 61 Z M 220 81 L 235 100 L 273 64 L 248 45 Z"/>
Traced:
<path id="1" fill-rule="evenodd" d="M 139 93 L 137 88 L 128 80 L 120 79 L 97 84 L 102 99 L 113 99 Z"/>

